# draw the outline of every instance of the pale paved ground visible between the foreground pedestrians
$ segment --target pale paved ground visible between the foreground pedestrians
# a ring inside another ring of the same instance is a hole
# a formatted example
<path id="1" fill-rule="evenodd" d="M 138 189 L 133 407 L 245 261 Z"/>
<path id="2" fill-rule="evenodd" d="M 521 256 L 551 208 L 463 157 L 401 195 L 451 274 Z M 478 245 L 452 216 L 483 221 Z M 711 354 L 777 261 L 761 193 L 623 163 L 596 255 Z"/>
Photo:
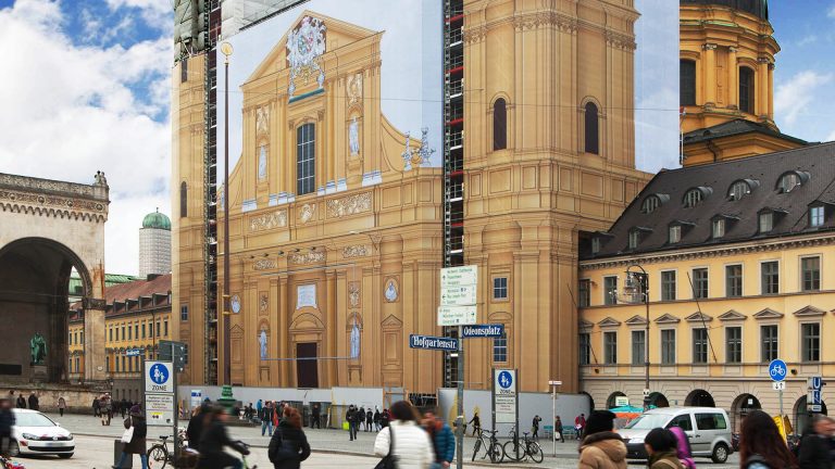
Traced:
<path id="1" fill-rule="evenodd" d="M 51 458 L 25 458 L 27 469 L 38 468 L 94 468 L 94 467 L 109 467 L 104 462 L 109 462 L 113 452 L 113 439 L 121 436 L 124 428 L 122 427 L 122 419 L 115 418 L 110 427 L 102 427 L 100 420 L 92 416 L 84 415 L 65 415 L 59 417 L 54 414 L 48 414 L 53 420 L 61 422 L 61 426 L 68 429 L 73 433 L 77 434 L 78 451 L 68 464 L 66 460 L 58 460 Z M 185 423 L 182 424 L 185 427 Z M 340 430 L 312 430 L 304 429 L 310 446 L 313 449 L 314 456 L 310 461 L 306 461 L 303 467 L 335 467 L 335 464 L 350 462 L 353 468 L 373 468 L 376 465 L 377 458 L 372 457 L 375 432 L 361 431 L 357 441 L 348 440 L 348 432 Z M 161 434 L 165 434 L 166 429 L 161 427 L 149 427 L 148 436 L 150 446 L 152 439 L 158 438 Z M 170 433 L 170 432 L 167 432 Z M 270 442 L 270 438 L 261 436 L 260 427 L 230 427 L 229 433 L 233 439 L 241 440 L 253 447 L 252 461 L 257 462 L 261 468 L 267 468 L 270 466 L 266 461 L 265 448 Z M 464 458 L 469 462 L 472 456 L 473 445 L 475 440 L 468 438 L 464 441 Z M 557 443 L 557 457 L 553 457 L 553 445 L 550 441 L 540 441 L 543 451 L 546 458 L 541 465 L 534 464 L 503 464 L 501 467 L 540 467 L 540 468 L 575 468 L 577 466 L 577 443 L 576 441 L 565 441 L 565 443 Z M 261 462 L 263 459 L 263 462 Z M 484 460 L 486 461 L 486 459 Z M 265 466 L 262 466 L 264 464 Z M 699 467 L 707 467 L 711 469 L 730 469 L 738 467 L 737 455 L 734 454 L 725 465 L 714 465 L 708 459 L 697 460 Z M 98 466 L 97 466 L 98 465 Z M 329 465 L 329 466 L 328 466 Z M 486 466 L 493 466 L 486 464 Z M 631 467 L 646 467 L 646 464 L 634 462 Z M 139 460 L 137 458 L 135 467 L 139 467 Z M 476 465 L 468 464 L 465 467 L 476 467 Z"/>

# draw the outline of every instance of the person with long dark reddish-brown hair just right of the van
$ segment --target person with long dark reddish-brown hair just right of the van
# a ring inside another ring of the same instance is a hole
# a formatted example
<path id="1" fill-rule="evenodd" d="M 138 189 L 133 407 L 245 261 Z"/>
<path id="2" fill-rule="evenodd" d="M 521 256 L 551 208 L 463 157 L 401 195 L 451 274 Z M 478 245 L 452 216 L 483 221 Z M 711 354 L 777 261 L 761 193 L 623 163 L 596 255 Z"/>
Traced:
<path id="1" fill-rule="evenodd" d="M 802 446 L 802 445 L 801 445 Z M 751 410 L 739 432 L 740 469 L 798 469 L 797 459 L 774 420 L 762 410 Z"/>

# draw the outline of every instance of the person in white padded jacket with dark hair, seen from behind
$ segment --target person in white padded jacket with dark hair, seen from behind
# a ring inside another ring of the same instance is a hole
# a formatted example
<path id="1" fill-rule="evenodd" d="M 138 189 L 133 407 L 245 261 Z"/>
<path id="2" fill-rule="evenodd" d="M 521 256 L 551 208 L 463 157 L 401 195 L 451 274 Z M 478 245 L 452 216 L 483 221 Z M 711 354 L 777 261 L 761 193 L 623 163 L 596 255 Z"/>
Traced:
<path id="1" fill-rule="evenodd" d="M 391 405 L 391 422 L 377 433 L 374 454 L 391 454 L 398 469 L 428 469 L 435 460 L 428 434 L 418 426 L 414 407 L 406 401 Z"/>

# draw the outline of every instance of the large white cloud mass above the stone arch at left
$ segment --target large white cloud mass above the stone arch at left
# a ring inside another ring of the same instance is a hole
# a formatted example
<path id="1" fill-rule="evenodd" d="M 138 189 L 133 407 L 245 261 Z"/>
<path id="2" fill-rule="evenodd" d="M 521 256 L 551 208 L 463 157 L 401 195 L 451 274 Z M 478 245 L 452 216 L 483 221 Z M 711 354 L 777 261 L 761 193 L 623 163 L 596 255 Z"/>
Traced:
<path id="1" fill-rule="evenodd" d="M 0 10 L 0 42 L 12 51 L 3 65 L 14 71 L 0 75 L 0 170 L 86 183 L 105 172 L 105 269 L 135 274 L 142 217 L 171 213 L 170 40 L 74 46 L 63 24 L 55 2 Z"/>

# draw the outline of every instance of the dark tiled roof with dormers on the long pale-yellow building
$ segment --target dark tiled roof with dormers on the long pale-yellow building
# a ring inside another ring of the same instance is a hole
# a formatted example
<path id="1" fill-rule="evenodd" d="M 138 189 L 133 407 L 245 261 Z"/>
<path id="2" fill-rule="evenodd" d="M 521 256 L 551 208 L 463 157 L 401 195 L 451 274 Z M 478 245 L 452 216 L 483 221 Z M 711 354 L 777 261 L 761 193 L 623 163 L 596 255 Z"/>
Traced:
<path id="1" fill-rule="evenodd" d="M 781 177 L 797 172 L 801 186 L 789 192 L 778 189 Z M 731 186 L 740 180 L 756 181 L 751 191 L 735 201 L 728 197 Z M 685 193 L 700 190 L 702 200 L 694 207 L 684 204 Z M 652 213 L 644 213 L 644 201 L 655 194 L 662 202 Z M 669 197 L 669 199 L 666 198 Z M 809 227 L 809 206 L 825 204 L 824 224 Z M 774 226 L 759 231 L 759 213 L 774 212 Z M 724 217 L 725 234 L 711 237 L 711 221 Z M 669 242 L 671 224 L 682 226 L 681 241 Z M 691 224 L 691 225 L 690 225 Z M 628 249 L 628 234 L 639 230 L 636 249 Z M 584 259 L 638 253 L 705 246 L 750 239 L 770 239 L 790 234 L 835 230 L 835 142 L 803 147 L 759 156 L 661 170 L 647 183 L 601 240 L 600 251 L 593 255 L 584 245 Z"/>

